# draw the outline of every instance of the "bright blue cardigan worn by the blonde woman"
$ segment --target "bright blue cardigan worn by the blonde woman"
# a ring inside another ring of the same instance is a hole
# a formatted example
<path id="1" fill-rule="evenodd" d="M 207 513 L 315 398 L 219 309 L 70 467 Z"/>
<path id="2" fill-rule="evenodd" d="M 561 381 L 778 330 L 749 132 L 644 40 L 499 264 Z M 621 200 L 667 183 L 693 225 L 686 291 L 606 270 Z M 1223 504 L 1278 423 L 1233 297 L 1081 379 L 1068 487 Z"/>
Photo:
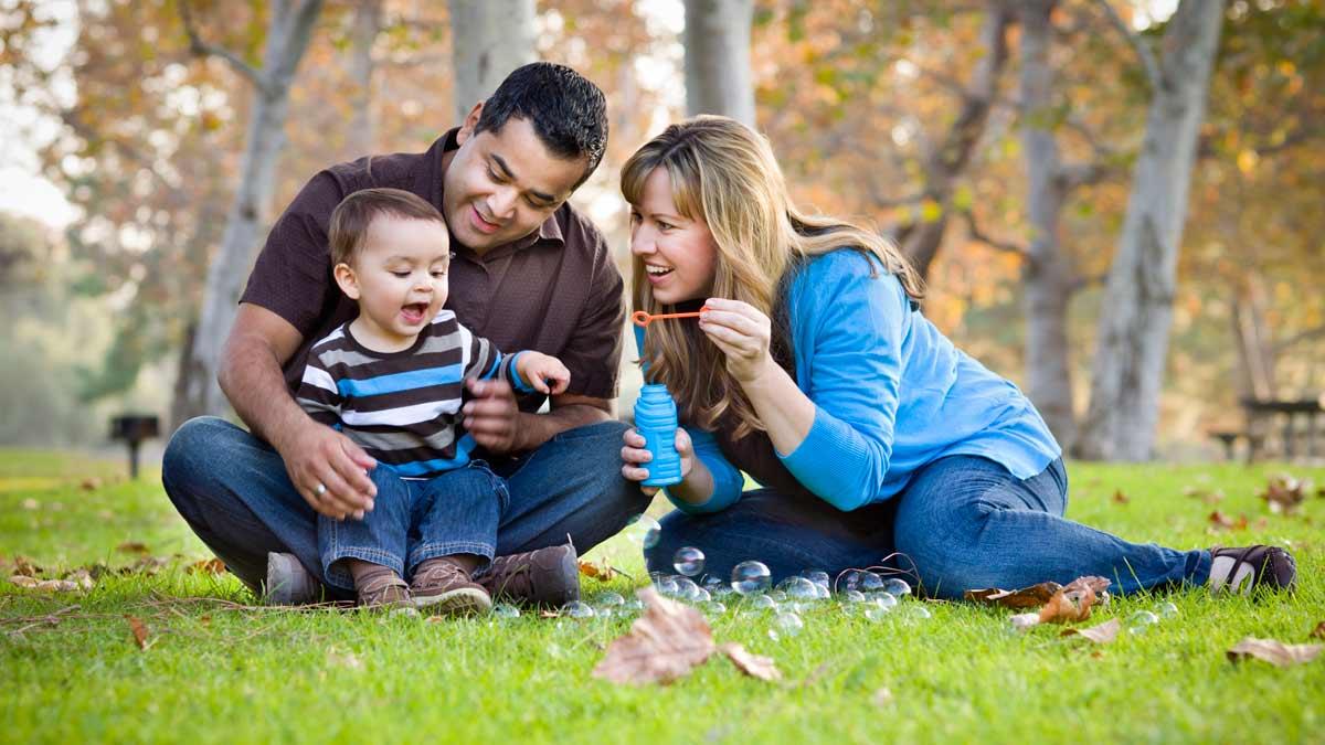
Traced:
<path id="1" fill-rule="evenodd" d="M 776 455 L 837 509 L 884 501 L 949 455 L 987 457 L 1018 479 L 1061 455 L 1022 391 L 954 347 L 874 260 L 851 249 L 818 256 L 787 293 L 796 384 L 814 402 L 815 420 L 794 452 Z M 644 330 L 635 331 L 643 355 Z M 673 504 L 690 513 L 730 506 L 745 477 L 713 432 L 685 428 L 714 490 L 701 505 Z"/>

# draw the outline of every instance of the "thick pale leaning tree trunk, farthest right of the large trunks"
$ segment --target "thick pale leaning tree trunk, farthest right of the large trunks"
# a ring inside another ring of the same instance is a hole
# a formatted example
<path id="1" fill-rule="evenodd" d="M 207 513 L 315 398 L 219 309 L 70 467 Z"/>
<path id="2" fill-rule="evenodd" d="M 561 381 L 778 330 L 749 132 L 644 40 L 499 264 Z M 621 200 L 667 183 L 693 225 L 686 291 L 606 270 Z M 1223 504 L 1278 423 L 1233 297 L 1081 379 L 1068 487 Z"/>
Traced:
<path id="1" fill-rule="evenodd" d="M 1223 0 L 1182 0 L 1165 30 L 1146 134 L 1100 313 L 1080 455 L 1151 457 L 1196 135 Z"/>

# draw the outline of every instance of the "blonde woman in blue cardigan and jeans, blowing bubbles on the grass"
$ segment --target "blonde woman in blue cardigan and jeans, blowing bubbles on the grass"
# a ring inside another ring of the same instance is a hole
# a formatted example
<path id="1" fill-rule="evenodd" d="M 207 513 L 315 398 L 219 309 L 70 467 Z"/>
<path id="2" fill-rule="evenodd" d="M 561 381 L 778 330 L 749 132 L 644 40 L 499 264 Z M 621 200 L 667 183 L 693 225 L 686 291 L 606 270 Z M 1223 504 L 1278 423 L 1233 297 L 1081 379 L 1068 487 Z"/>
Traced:
<path id="1" fill-rule="evenodd" d="M 931 597 L 1102 575 L 1133 593 L 1291 587 L 1279 547 L 1181 551 L 1063 518 L 1061 451 L 1012 383 L 920 312 L 921 282 L 885 240 L 792 207 L 767 142 L 735 121 L 668 127 L 621 172 L 636 310 L 705 306 L 636 330 L 682 428 L 678 508 L 648 550 L 681 546 L 713 574 L 774 578 L 877 565 L 898 551 Z M 627 479 L 648 477 L 633 430 Z M 742 492 L 741 472 L 765 488 Z"/>

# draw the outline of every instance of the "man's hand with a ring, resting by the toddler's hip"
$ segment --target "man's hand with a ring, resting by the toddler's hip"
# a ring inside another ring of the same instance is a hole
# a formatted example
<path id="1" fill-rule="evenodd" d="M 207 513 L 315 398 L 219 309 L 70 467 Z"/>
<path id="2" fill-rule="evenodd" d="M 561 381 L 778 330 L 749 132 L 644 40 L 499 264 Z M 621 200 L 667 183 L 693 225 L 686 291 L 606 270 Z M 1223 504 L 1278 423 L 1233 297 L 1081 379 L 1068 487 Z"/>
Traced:
<path id="1" fill-rule="evenodd" d="M 363 518 L 378 488 L 367 471 L 378 461 L 335 430 L 307 420 L 277 451 L 294 488 L 318 512 L 335 520 Z"/>

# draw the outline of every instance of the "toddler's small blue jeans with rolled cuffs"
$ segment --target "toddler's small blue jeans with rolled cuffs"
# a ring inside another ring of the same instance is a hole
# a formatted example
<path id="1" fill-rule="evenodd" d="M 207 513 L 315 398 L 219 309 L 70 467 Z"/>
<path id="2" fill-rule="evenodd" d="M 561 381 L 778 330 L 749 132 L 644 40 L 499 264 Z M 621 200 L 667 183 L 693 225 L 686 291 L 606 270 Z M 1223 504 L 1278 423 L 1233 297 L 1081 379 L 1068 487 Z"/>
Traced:
<path id="1" fill-rule="evenodd" d="M 428 480 L 401 479 L 378 464 L 368 472 L 378 487 L 372 512 L 363 520 L 318 516 L 318 550 L 327 583 L 352 590 L 343 558 L 358 558 L 409 578 L 437 557 L 480 557 L 486 569 L 497 550 L 497 521 L 510 504 L 506 481 L 481 460 Z"/>

